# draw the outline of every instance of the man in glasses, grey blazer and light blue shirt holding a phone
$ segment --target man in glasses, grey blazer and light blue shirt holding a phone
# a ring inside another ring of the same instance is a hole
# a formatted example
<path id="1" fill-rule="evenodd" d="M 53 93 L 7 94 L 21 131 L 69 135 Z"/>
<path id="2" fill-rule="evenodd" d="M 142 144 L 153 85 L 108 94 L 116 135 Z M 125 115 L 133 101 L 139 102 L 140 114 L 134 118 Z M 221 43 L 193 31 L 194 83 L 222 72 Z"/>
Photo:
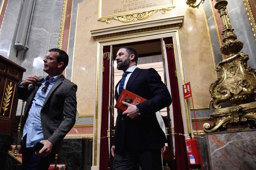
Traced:
<path id="1" fill-rule="evenodd" d="M 62 72 L 68 65 L 68 55 L 57 48 L 49 50 L 43 59 L 48 76 L 30 75 L 18 85 L 20 99 L 26 100 L 23 119 L 23 169 L 49 168 L 61 148 L 62 139 L 75 124 L 77 85 Z M 43 148 L 36 152 L 34 145 Z"/>

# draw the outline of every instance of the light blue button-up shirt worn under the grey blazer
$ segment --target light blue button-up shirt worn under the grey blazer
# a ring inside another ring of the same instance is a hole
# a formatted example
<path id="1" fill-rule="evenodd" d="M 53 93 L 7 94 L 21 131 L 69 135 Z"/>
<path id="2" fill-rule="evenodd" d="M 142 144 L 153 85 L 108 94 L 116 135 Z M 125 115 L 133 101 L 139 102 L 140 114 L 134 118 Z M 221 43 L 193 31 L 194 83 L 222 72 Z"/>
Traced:
<path id="1" fill-rule="evenodd" d="M 45 93 L 42 92 L 42 88 L 45 86 L 46 81 L 48 81 L 46 80 L 48 76 L 44 77 L 42 85 L 36 92 L 36 95 L 32 101 L 31 108 L 29 110 L 29 116 L 23 129 L 23 137 L 27 134 L 26 147 L 33 147 L 37 142 L 44 140 L 40 112 L 47 94 L 61 75 L 62 74 L 59 74 L 50 79 L 49 86 Z"/>

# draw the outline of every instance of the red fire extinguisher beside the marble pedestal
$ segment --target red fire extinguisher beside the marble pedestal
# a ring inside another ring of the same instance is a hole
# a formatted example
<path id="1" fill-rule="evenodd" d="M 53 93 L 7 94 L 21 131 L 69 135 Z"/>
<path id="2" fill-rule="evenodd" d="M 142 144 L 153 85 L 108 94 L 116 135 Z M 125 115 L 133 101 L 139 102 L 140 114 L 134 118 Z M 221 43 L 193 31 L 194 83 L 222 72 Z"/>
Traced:
<path id="1" fill-rule="evenodd" d="M 189 168 L 196 169 L 201 167 L 201 162 L 198 154 L 198 146 L 196 139 L 190 137 L 186 140 Z"/>

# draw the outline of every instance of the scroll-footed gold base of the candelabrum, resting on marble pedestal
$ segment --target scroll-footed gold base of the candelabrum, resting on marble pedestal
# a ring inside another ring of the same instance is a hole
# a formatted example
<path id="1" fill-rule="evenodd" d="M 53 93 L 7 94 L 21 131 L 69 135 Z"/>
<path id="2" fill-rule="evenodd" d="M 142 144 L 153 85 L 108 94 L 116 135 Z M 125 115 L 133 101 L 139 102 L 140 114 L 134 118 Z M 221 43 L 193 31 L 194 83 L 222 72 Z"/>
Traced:
<path id="1" fill-rule="evenodd" d="M 213 120 L 213 125 L 203 124 L 205 132 L 223 131 L 227 129 L 227 124 L 242 125 L 248 123 L 250 124 L 249 129 L 255 129 L 256 102 L 215 109 L 210 116 L 209 119 Z"/>

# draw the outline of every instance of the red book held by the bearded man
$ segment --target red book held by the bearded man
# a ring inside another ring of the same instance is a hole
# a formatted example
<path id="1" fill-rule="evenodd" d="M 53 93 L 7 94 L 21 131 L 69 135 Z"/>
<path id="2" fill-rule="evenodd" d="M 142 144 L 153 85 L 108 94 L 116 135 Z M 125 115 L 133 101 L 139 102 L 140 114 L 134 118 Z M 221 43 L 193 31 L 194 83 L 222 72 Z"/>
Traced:
<path id="1" fill-rule="evenodd" d="M 134 94 L 128 90 L 123 89 L 122 93 L 120 94 L 118 100 L 116 101 L 116 105 L 115 108 L 122 110 L 122 111 L 126 111 L 127 110 L 127 106 L 122 104 L 122 101 L 126 102 L 126 103 L 130 103 L 133 105 L 137 105 L 140 104 L 142 102 L 145 102 L 146 99 L 138 96 L 137 94 Z"/>

